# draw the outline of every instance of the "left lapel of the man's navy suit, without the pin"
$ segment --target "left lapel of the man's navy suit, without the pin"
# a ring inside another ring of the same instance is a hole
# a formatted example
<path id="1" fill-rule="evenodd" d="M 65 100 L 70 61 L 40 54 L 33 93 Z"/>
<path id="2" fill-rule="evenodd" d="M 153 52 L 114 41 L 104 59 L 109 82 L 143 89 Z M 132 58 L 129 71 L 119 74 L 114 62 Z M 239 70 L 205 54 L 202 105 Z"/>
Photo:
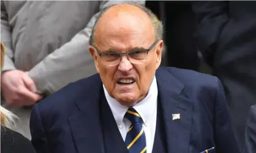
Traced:
<path id="1" fill-rule="evenodd" d="M 79 153 L 105 152 L 100 121 L 100 78 L 95 82 L 90 89 L 85 88 L 86 94 L 80 95 L 80 100 L 75 101 L 80 111 L 69 118 L 73 141 Z"/>

